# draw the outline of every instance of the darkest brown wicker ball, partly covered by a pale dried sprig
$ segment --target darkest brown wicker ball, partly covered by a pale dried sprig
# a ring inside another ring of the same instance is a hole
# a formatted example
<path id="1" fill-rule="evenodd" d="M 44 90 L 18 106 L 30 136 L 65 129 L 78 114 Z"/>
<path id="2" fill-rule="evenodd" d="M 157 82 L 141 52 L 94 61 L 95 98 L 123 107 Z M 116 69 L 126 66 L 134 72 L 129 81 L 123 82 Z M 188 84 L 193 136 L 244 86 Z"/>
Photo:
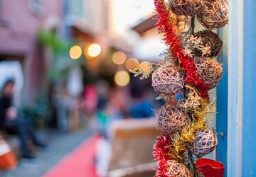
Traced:
<path id="1" fill-rule="evenodd" d="M 204 55 L 205 57 L 211 57 L 211 58 L 216 57 L 223 45 L 223 42 L 220 40 L 218 35 L 216 33 L 213 33 L 210 30 L 198 31 L 197 33 L 194 34 L 194 37 L 201 38 L 202 40 L 201 45 L 203 46 L 208 45 L 210 47 L 210 54 Z M 196 55 L 196 57 L 202 57 L 203 52 L 202 50 L 195 48 L 194 55 Z"/>

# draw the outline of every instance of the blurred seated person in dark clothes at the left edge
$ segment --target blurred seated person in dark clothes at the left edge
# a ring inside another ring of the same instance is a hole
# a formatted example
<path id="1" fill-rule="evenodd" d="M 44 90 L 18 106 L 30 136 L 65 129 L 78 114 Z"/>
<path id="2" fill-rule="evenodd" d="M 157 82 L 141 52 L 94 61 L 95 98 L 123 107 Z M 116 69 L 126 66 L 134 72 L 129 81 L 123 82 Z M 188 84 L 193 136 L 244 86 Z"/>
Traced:
<path id="1" fill-rule="evenodd" d="M 46 144 L 36 137 L 33 127 L 18 114 L 17 109 L 12 103 L 14 91 L 14 80 L 6 81 L 3 86 L 0 97 L 0 130 L 10 134 L 18 135 L 23 158 L 33 159 L 31 151 L 28 148 L 28 139 L 38 147 L 46 147 Z"/>

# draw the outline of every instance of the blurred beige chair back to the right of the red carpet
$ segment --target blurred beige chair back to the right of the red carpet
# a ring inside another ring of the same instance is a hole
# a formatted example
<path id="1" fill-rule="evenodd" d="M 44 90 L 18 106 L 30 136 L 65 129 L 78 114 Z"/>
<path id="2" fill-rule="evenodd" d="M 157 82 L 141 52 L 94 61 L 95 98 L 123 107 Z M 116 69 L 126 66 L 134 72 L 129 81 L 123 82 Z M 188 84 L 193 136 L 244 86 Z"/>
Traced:
<path id="1" fill-rule="evenodd" d="M 152 147 L 161 131 L 153 119 L 118 120 L 110 127 L 109 177 L 154 176 Z"/>

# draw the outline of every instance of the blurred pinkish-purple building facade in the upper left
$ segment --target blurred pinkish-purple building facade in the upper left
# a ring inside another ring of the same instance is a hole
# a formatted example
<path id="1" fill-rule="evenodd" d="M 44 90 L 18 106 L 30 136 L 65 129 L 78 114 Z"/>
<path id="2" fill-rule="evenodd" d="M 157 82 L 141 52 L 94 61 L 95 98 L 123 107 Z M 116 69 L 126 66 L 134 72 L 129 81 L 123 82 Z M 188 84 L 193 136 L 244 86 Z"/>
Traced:
<path id="1" fill-rule="evenodd" d="M 0 60 L 18 61 L 23 68 L 23 101 L 41 91 L 48 64 L 38 42 L 38 30 L 59 30 L 63 1 L 0 1 Z"/>

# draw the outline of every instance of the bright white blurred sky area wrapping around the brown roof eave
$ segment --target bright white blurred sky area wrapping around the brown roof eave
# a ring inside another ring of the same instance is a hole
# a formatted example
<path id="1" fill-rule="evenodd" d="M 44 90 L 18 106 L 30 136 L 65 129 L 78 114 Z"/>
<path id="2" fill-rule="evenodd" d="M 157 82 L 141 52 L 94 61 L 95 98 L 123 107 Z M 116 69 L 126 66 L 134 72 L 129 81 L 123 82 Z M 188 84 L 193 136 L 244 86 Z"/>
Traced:
<path id="1" fill-rule="evenodd" d="M 154 0 L 112 0 L 112 26 L 129 45 L 134 46 L 134 57 L 153 61 L 166 48 L 159 36 L 142 39 L 130 30 L 154 13 Z"/>

